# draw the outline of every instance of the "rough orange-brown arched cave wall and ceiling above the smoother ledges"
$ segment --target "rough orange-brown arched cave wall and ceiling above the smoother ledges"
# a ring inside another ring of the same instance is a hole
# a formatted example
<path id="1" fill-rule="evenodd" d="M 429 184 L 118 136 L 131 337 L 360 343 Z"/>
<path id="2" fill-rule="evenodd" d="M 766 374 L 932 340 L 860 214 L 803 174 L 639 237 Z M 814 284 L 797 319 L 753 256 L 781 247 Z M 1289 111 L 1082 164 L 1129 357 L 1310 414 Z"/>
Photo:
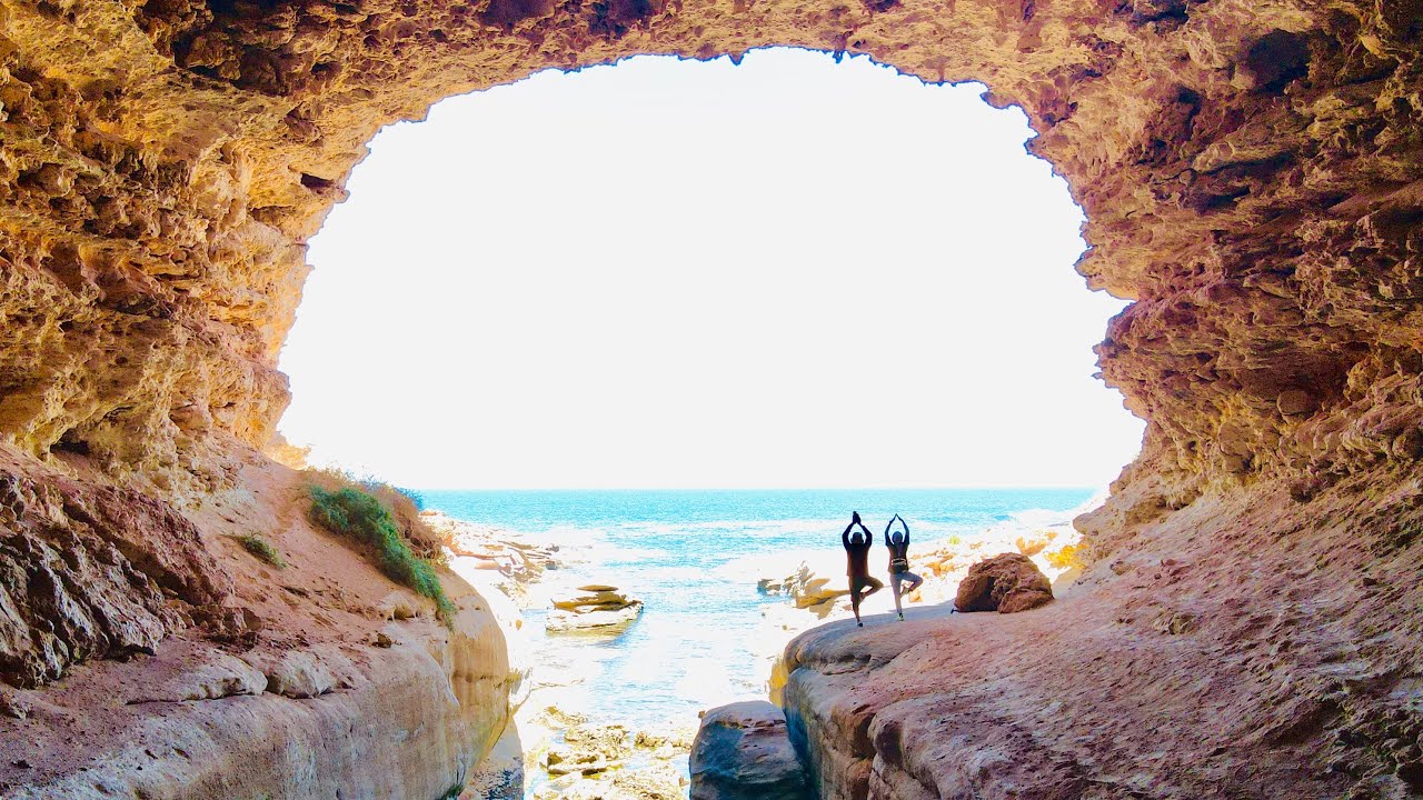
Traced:
<path id="1" fill-rule="evenodd" d="M 0 9 L 0 431 L 37 458 L 174 491 L 263 446 L 305 242 L 380 125 L 545 67 L 764 44 L 1027 111 L 1087 212 L 1080 272 L 1137 300 L 1099 350 L 1167 502 L 1423 453 L 1412 0 Z"/>

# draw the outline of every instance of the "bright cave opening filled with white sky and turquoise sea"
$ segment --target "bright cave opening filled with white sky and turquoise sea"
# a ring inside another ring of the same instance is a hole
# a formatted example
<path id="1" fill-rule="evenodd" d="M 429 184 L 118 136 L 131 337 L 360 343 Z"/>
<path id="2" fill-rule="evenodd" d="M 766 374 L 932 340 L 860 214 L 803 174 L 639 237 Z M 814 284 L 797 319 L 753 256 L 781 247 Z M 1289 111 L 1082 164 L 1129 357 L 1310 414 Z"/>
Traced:
<path id="1" fill-rule="evenodd" d="M 794 631 L 850 614 L 824 584 L 851 511 L 939 554 L 911 615 L 978 542 L 1072 572 L 1072 517 L 1140 446 L 1093 374 L 1124 303 L 1073 272 L 1081 211 L 983 91 L 821 51 L 635 57 L 371 142 L 312 241 L 283 431 L 414 487 L 451 541 L 559 552 L 511 592 L 524 754 L 569 716 L 650 732 L 764 696 Z M 481 547 L 451 565 L 501 594 Z M 601 635 L 569 635 L 581 598 Z M 525 766 L 525 793 L 559 781 Z"/>

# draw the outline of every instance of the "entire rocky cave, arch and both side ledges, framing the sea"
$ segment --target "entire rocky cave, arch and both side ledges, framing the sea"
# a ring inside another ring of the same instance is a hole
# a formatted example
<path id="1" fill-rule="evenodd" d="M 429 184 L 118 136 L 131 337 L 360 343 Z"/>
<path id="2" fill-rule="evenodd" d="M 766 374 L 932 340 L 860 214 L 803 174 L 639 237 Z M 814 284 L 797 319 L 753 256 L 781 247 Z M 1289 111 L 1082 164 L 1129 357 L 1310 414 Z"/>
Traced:
<path id="1" fill-rule="evenodd" d="M 374 132 L 443 97 L 795 46 L 1027 114 L 1087 215 L 1077 270 L 1131 300 L 1097 353 L 1148 424 L 1077 521 L 1072 602 L 797 641 L 820 796 L 1417 796 L 1420 31 L 1416 1 L 6 0 L 0 791 L 458 786 L 509 690 L 475 601 L 342 651 L 309 628 L 380 606 L 379 574 L 333 554 L 283 602 L 233 567 L 239 528 L 295 525 L 265 453 L 306 241 Z M 253 641 L 283 649 L 266 678 L 228 653 Z M 344 690 L 317 713 L 270 675 Z"/>

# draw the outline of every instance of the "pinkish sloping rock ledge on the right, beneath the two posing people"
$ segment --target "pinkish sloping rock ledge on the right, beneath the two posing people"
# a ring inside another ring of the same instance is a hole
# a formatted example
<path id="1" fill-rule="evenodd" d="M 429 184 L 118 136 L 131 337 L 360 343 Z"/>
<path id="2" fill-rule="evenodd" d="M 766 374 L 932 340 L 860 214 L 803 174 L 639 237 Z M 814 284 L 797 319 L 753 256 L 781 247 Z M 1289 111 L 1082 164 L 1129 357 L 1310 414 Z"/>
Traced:
<path id="1" fill-rule="evenodd" d="M 1413 497 L 1202 495 L 1043 608 L 817 628 L 791 739 L 822 800 L 1417 797 Z"/>

